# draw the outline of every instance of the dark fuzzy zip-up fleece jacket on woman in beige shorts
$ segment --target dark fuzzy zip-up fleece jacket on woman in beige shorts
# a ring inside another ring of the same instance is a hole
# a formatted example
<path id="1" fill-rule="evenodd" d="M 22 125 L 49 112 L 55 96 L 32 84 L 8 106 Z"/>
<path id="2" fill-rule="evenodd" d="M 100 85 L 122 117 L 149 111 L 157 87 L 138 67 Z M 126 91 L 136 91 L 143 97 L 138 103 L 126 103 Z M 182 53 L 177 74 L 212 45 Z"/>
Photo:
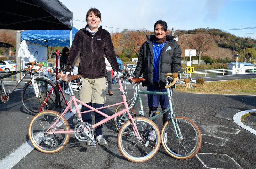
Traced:
<path id="1" fill-rule="evenodd" d="M 100 27 L 92 36 L 83 28 L 75 34 L 67 65 L 70 64 L 73 71 L 75 62 L 80 56 L 78 74 L 91 79 L 107 77 L 104 54 L 113 70 L 120 71 L 110 33 Z M 66 71 L 69 71 L 68 66 Z"/>

